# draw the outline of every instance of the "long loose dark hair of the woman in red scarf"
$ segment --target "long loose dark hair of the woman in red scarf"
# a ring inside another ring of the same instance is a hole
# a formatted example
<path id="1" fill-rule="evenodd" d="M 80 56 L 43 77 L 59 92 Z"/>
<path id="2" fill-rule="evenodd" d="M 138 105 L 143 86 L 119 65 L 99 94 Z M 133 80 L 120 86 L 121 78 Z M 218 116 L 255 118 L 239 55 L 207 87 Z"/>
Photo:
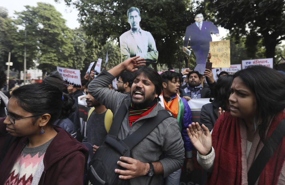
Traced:
<path id="1" fill-rule="evenodd" d="M 264 142 L 265 132 L 271 120 L 285 108 L 285 75 L 269 67 L 249 66 L 237 71 L 233 77 L 243 80 L 256 96 L 257 107 L 253 128 L 255 131 L 258 130 Z"/>

